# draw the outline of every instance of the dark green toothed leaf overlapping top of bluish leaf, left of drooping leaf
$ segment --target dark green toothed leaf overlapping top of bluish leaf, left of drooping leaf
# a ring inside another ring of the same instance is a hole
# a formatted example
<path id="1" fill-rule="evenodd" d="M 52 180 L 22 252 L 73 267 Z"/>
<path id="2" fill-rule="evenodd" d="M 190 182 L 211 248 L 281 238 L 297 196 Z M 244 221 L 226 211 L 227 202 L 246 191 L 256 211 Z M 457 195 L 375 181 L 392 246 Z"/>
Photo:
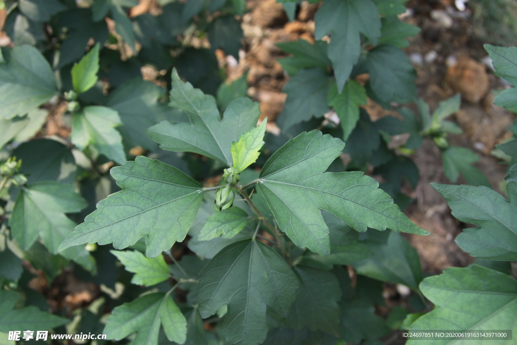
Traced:
<path id="1" fill-rule="evenodd" d="M 299 39 L 295 42 L 277 43 L 277 46 L 284 52 L 293 54 L 291 57 L 283 57 L 278 60 L 289 76 L 294 76 L 304 68 L 326 68 L 332 65 L 327 57 L 328 43 L 325 41 L 315 41 L 314 44 L 311 44 L 305 39 Z"/>

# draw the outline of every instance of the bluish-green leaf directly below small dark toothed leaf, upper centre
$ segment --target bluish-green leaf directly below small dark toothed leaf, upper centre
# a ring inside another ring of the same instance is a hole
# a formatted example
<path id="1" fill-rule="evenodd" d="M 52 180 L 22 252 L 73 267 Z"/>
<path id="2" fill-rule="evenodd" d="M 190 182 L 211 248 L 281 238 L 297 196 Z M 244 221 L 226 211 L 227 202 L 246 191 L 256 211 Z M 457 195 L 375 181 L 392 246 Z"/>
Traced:
<path id="1" fill-rule="evenodd" d="M 332 78 L 322 68 L 303 69 L 290 78 L 283 88 L 287 94 L 278 125 L 287 129 L 311 117 L 322 117 L 329 111 L 327 92 Z"/>

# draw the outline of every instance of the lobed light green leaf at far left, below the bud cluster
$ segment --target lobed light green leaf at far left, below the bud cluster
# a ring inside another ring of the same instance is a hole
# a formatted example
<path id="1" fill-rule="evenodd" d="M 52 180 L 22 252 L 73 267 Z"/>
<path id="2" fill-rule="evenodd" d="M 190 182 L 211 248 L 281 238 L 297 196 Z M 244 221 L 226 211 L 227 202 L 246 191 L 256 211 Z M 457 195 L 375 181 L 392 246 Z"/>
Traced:
<path id="1" fill-rule="evenodd" d="M 58 246 L 77 225 L 66 214 L 78 213 L 86 206 L 86 200 L 71 185 L 57 182 L 27 185 L 20 190 L 12 209 L 9 219 L 11 235 L 23 250 L 28 250 L 41 238 L 44 246 L 56 254 Z M 95 269 L 95 263 L 84 246 L 59 254 L 87 269 Z"/>

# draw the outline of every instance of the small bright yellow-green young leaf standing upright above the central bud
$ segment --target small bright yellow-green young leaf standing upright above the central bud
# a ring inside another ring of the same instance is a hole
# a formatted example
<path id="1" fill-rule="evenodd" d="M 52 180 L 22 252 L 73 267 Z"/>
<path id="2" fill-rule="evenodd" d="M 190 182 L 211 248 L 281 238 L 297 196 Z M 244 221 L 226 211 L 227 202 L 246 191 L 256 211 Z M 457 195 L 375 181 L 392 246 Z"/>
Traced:
<path id="1" fill-rule="evenodd" d="M 254 163 L 260 155 L 260 149 L 264 145 L 264 134 L 266 133 L 267 117 L 260 126 L 242 133 L 239 141 L 233 142 L 230 152 L 232 153 L 233 167 L 241 172 Z"/>

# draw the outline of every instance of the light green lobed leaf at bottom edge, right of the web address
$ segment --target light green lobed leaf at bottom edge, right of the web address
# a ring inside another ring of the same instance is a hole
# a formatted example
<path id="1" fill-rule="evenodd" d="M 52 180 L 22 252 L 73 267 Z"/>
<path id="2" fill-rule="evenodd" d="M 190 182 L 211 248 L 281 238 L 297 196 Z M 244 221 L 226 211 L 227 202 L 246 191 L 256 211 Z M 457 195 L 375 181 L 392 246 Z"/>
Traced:
<path id="1" fill-rule="evenodd" d="M 136 298 L 113 309 L 102 333 L 108 339 L 120 340 L 136 332 L 133 345 L 156 345 L 160 325 L 170 341 L 183 344 L 187 320 L 169 294 L 161 292 Z"/>

